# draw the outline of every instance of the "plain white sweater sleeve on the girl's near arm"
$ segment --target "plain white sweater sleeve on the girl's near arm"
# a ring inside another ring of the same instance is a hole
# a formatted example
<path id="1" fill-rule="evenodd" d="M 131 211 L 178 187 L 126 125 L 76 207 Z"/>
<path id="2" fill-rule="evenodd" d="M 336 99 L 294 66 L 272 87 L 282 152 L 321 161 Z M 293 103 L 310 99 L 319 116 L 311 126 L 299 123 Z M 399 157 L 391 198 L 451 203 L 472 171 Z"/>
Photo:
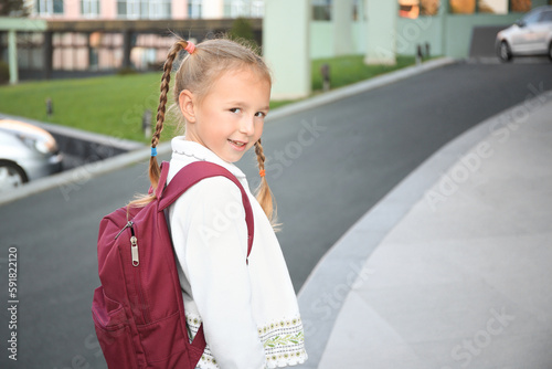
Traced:
<path id="1" fill-rule="evenodd" d="M 240 189 L 202 180 L 174 203 L 171 232 L 182 271 L 220 368 L 265 368 L 252 312 L 247 225 Z M 179 242 L 185 240 L 185 242 Z"/>

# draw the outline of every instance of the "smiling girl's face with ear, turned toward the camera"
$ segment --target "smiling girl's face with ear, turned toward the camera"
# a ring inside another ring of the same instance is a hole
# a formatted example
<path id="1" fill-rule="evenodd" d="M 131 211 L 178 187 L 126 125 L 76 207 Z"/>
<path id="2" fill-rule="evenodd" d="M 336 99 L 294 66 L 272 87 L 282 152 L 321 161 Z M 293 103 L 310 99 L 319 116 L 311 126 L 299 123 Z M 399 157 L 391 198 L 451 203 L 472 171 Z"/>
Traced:
<path id="1" fill-rule="evenodd" d="M 270 83 L 246 68 L 224 72 L 201 102 L 184 89 L 185 139 L 235 162 L 261 138 L 269 101 Z"/>

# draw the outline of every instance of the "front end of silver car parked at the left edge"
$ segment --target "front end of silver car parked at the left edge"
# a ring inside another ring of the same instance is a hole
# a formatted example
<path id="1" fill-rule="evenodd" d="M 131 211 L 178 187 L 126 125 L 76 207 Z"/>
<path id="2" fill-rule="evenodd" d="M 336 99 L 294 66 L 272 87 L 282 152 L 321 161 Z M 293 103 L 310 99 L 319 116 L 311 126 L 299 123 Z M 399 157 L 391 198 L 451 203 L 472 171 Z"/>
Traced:
<path id="1" fill-rule="evenodd" d="M 62 170 L 57 143 L 28 123 L 0 119 L 0 191 Z"/>

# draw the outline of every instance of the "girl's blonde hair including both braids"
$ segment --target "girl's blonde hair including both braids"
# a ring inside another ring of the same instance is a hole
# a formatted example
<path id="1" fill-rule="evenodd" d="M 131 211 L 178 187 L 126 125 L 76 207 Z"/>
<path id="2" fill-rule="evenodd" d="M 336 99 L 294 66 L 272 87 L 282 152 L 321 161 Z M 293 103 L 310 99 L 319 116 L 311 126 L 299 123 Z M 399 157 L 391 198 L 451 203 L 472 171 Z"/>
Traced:
<path id="1" fill-rule="evenodd" d="M 167 55 L 163 75 L 161 77 L 161 95 L 157 108 L 157 124 L 151 138 L 152 148 L 157 147 L 159 144 L 161 131 L 163 130 L 172 65 L 179 52 L 187 46 L 188 41 L 178 39 Z M 242 68 L 254 71 L 261 77 L 272 83 L 270 71 L 251 45 L 227 39 L 208 40 L 199 43 L 195 45 L 193 53 L 188 54 L 183 59 L 176 73 L 173 87 L 174 104 L 178 106 L 179 96 L 183 89 L 193 92 L 193 94 L 198 96 L 198 99 L 201 101 L 223 72 Z M 174 108 L 174 110 L 180 112 L 179 108 Z M 255 143 L 255 154 L 257 156 L 259 171 L 265 170 L 265 155 L 263 146 L 261 145 L 261 139 Z M 153 188 L 153 193 L 159 183 L 160 172 L 157 157 L 152 156 L 149 161 L 149 180 Z M 153 198 L 155 194 L 141 197 L 130 202 L 129 205 L 144 207 L 153 200 Z M 275 221 L 276 211 L 274 199 L 265 176 L 261 177 L 261 183 L 256 190 L 256 198 L 270 222 Z"/>

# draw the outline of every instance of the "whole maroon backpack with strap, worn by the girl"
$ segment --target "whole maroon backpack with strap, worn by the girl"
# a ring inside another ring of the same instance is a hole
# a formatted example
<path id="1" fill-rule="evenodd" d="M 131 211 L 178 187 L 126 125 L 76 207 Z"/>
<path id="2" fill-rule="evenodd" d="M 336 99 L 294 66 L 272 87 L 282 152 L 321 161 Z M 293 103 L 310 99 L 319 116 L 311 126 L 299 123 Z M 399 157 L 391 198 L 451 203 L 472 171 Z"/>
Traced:
<path id="1" fill-rule="evenodd" d="M 120 208 L 99 224 L 98 273 L 92 315 L 109 368 L 195 368 L 205 348 L 203 326 L 192 342 L 164 209 L 204 178 L 222 176 L 242 192 L 247 223 L 247 256 L 253 245 L 253 212 L 240 181 L 212 162 L 195 161 L 166 187 L 161 165 L 156 199 L 145 208 Z M 246 262 L 246 260 L 244 261 Z"/>

